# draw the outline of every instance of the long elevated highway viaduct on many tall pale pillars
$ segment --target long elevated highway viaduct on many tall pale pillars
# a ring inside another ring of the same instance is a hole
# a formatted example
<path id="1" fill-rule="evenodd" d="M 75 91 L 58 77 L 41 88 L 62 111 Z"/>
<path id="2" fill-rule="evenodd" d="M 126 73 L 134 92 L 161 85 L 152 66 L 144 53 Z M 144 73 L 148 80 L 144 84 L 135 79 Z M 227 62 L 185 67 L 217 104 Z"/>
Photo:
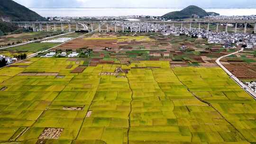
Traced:
<path id="1" fill-rule="evenodd" d="M 238 24 L 243 24 L 243 32 L 247 33 L 247 26 L 248 24 L 254 26 L 254 33 L 256 34 L 256 20 L 218 20 L 218 21 L 13 21 L 11 22 L 13 24 L 18 25 L 19 27 L 24 27 L 28 29 L 28 27 L 32 28 L 33 31 L 58 31 L 61 30 L 62 32 L 65 31 L 65 27 L 67 27 L 67 31 L 71 32 L 73 31 L 73 28 L 75 27 L 75 30 L 80 30 L 83 28 L 80 28 L 79 25 L 86 25 L 91 26 L 90 29 L 91 32 L 95 31 L 97 29 L 98 32 L 103 32 L 102 27 L 105 27 L 104 32 L 118 32 L 118 27 L 120 28 L 119 31 L 125 32 L 125 29 L 128 28 L 130 32 L 135 31 L 135 27 L 137 29 L 137 32 L 160 32 L 159 29 L 157 29 L 156 25 L 161 25 L 162 29 L 164 30 L 167 28 L 167 26 L 174 26 L 179 25 L 180 27 L 183 27 L 185 24 L 190 24 L 190 30 L 192 29 L 192 25 L 198 25 L 198 28 L 201 28 L 201 24 L 208 25 L 207 31 L 210 30 L 210 25 L 214 24 L 216 25 L 216 32 L 219 32 L 219 25 L 225 25 L 225 32 L 228 33 L 228 27 L 229 24 L 234 24 L 235 32 L 238 31 Z M 155 30 L 150 30 L 150 25 L 155 25 Z M 97 28 L 95 28 L 95 26 Z M 72 28 L 73 27 L 73 28 Z M 111 27 L 111 30 L 110 30 Z M 144 30 L 141 30 L 142 27 Z M 112 30 L 113 29 L 113 30 Z"/>

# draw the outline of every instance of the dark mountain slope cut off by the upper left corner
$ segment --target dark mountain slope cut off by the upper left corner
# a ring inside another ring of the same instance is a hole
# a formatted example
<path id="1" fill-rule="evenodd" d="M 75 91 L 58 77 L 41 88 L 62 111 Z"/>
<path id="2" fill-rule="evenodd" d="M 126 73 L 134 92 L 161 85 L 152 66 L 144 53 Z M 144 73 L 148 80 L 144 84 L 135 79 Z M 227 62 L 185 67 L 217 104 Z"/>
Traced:
<path id="1" fill-rule="evenodd" d="M 2 21 L 45 21 L 46 19 L 36 12 L 14 2 L 0 0 L 0 20 Z"/>

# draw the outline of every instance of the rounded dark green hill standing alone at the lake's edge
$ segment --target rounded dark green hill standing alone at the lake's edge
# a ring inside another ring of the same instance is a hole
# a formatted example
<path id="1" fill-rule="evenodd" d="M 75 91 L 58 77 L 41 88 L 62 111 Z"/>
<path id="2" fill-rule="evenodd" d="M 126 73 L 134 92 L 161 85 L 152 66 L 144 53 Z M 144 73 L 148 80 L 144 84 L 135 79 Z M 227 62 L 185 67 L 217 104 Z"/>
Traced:
<path id="1" fill-rule="evenodd" d="M 182 18 L 193 18 L 193 17 L 202 18 L 210 15 L 219 15 L 219 14 L 214 12 L 206 12 L 205 10 L 197 6 L 188 6 L 187 8 L 181 11 L 170 12 L 165 14 L 162 17 L 166 19 L 182 19 Z"/>

